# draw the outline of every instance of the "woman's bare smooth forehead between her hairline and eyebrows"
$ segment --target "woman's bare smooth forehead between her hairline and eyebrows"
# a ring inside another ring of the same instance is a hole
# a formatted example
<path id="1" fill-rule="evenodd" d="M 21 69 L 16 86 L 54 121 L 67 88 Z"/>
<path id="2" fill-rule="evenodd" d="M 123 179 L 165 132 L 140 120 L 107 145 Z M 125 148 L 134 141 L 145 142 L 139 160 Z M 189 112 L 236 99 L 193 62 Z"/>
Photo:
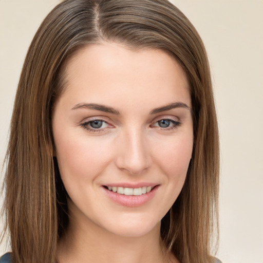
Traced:
<path id="1" fill-rule="evenodd" d="M 66 62 L 64 73 L 62 97 L 72 100 L 104 104 L 180 100 L 191 105 L 184 70 L 160 49 L 131 50 L 117 43 L 89 45 Z"/>

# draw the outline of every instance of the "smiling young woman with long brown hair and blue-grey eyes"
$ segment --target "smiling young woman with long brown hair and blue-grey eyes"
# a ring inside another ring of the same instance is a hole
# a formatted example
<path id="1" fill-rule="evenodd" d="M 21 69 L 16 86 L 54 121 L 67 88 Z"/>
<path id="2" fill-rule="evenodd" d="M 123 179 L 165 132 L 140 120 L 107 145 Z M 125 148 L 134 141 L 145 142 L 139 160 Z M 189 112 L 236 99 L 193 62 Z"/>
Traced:
<path id="1" fill-rule="evenodd" d="M 216 262 L 218 165 L 189 20 L 164 0 L 63 1 L 18 84 L 2 261 Z"/>

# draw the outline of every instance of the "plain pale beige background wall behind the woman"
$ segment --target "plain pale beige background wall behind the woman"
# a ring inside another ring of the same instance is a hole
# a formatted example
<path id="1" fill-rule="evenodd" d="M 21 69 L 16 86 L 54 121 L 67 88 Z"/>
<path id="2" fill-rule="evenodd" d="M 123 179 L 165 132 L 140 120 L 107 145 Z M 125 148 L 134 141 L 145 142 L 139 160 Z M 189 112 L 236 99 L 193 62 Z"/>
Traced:
<path id="1" fill-rule="evenodd" d="M 1 165 L 27 48 L 58 2 L 0 0 Z M 218 257 L 263 263 L 263 1 L 173 3 L 196 26 L 211 61 L 221 138 Z M 0 246 L 0 254 L 7 250 Z"/>

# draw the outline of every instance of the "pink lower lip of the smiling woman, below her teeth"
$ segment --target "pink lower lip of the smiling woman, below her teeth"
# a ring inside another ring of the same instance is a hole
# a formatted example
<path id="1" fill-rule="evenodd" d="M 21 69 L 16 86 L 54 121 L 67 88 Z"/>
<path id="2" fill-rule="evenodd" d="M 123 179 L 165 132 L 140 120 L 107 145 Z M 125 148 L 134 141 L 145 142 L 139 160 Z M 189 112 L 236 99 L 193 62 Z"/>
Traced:
<path id="1" fill-rule="evenodd" d="M 109 191 L 102 186 L 102 189 L 112 201 L 121 204 L 123 206 L 129 206 L 129 207 L 141 206 L 147 203 L 155 196 L 158 188 L 159 185 L 155 186 L 154 189 L 151 190 L 151 192 L 142 195 L 123 195 Z"/>

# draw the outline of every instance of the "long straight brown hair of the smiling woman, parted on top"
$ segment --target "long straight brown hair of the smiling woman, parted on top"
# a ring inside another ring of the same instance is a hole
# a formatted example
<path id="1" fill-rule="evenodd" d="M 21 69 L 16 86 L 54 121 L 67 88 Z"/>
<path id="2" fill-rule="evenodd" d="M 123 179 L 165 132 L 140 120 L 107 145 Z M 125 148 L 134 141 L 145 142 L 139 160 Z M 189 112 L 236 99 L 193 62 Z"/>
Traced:
<path id="1" fill-rule="evenodd" d="M 67 59 L 101 41 L 162 49 L 186 72 L 193 156 L 183 189 L 162 219 L 161 236 L 182 263 L 212 263 L 219 146 L 210 67 L 194 26 L 166 0 L 65 0 L 37 30 L 18 84 L 6 155 L 4 210 L 13 262 L 57 261 L 68 216 L 66 191 L 53 158 L 52 107 L 63 92 Z"/>

